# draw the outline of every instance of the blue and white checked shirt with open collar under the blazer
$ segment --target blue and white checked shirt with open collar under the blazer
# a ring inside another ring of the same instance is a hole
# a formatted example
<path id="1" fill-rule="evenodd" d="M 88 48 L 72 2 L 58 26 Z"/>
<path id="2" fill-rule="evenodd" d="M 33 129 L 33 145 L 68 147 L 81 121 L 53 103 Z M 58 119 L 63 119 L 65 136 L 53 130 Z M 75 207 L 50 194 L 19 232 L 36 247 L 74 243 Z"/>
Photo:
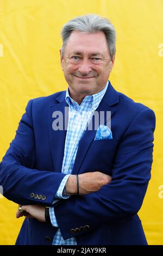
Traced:
<path id="1" fill-rule="evenodd" d="M 80 138 L 82 137 L 83 132 L 86 130 L 87 124 L 89 124 L 89 120 L 92 117 L 92 113 L 97 109 L 107 88 L 108 83 L 106 84 L 105 88 L 101 90 L 101 92 L 85 96 L 80 105 L 70 97 L 67 88 L 65 100 L 69 106 L 68 126 L 65 141 L 64 159 L 62 162 L 61 170 L 62 173 L 65 173 L 67 175 L 64 177 L 64 179 L 62 179 L 58 191 L 55 194 L 56 199 L 67 199 L 70 197 L 63 197 L 62 192 L 64 190 L 68 177 L 72 173 Z M 56 203 L 57 200 L 54 200 L 53 203 Z M 53 227 L 58 227 L 53 207 L 49 208 L 49 214 Z M 53 239 L 53 245 L 77 245 L 77 242 L 75 237 L 64 240 L 60 233 L 60 229 L 58 228 Z"/>

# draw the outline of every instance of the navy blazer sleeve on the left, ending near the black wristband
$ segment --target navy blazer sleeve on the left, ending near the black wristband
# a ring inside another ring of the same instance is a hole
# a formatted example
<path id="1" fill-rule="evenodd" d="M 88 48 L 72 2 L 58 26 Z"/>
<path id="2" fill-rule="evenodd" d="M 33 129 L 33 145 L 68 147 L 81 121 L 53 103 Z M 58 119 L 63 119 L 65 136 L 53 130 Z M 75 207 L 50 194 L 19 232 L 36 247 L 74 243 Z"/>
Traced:
<path id="1" fill-rule="evenodd" d="M 52 205 L 66 174 L 34 168 L 32 105 L 33 100 L 30 100 L 18 125 L 16 136 L 0 164 L 0 185 L 3 187 L 4 197 L 17 204 Z M 37 198 L 38 195 L 40 198 Z"/>

